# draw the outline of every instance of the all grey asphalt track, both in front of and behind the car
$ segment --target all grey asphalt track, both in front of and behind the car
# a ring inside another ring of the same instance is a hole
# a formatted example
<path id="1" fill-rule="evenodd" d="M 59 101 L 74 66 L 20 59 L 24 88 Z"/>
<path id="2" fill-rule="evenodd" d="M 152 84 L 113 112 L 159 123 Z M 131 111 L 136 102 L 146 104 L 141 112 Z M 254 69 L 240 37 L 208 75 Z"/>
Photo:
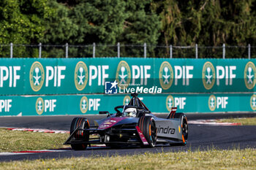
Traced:
<path id="1" fill-rule="evenodd" d="M 165 117 L 160 115 L 159 117 Z M 255 117 L 255 114 L 214 114 L 214 115 L 187 115 L 188 120 L 212 119 L 221 117 Z M 75 116 L 51 116 L 51 117 L 0 117 L 0 127 L 19 128 L 48 128 L 56 130 L 69 130 L 72 118 Z M 105 115 L 88 115 L 89 119 L 105 117 Z M 92 122 L 91 122 L 92 123 Z M 26 159 L 47 158 L 71 158 L 89 156 L 134 155 L 144 152 L 177 152 L 186 150 L 233 149 L 256 148 L 256 125 L 189 125 L 189 139 L 187 146 L 160 145 L 154 148 L 128 147 L 122 149 L 110 149 L 106 147 L 91 147 L 88 150 L 65 152 L 42 152 L 24 155 L 0 155 L 0 161 L 20 161 Z"/>

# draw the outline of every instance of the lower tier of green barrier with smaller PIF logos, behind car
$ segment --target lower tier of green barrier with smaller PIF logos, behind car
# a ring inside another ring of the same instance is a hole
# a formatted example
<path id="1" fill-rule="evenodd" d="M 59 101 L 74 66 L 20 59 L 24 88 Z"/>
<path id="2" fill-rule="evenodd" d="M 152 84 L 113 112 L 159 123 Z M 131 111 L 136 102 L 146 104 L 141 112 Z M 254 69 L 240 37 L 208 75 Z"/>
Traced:
<path id="1" fill-rule="evenodd" d="M 151 112 L 255 112 L 255 94 L 155 94 L 140 95 Z M 127 104 L 128 95 L 0 96 L 0 116 L 88 115 L 115 112 Z"/>

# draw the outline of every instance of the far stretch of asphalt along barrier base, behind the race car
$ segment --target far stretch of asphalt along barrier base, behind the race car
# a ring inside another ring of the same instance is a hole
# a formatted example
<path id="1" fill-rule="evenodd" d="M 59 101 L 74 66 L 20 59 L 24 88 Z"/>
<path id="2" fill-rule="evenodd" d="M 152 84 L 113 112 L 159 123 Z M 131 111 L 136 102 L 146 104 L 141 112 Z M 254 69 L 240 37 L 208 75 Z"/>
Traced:
<path id="1" fill-rule="evenodd" d="M 157 115 L 167 117 L 167 114 Z M 256 113 L 234 113 L 234 114 L 187 114 L 188 120 L 220 119 L 227 117 L 255 117 Z M 69 131 L 70 123 L 74 117 L 87 117 L 90 125 L 94 119 L 101 119 L 106 115 L 66 115 L 66 116 L 23 116 L 23 117 L 0 117 L 0 127 L 13 128 L 48 128 Z"/>

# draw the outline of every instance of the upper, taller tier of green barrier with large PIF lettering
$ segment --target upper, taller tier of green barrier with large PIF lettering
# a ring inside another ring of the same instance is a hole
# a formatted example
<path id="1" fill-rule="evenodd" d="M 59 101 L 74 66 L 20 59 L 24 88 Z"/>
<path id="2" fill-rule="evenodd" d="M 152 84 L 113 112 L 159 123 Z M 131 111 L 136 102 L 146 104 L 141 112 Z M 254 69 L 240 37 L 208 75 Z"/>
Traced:
<path id="1" fill-rule="evenodd" d="M 0 96 L 104 93 L 157 86 L 162 93 L 253 93 L 255 59 L 0 58 Z"/>

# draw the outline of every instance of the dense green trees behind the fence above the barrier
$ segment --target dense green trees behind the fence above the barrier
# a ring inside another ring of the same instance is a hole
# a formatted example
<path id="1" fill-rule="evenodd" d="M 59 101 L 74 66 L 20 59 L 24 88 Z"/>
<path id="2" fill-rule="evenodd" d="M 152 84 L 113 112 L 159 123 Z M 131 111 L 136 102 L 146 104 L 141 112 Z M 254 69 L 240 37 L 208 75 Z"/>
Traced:
<path id="1" fill-rule="evenodd" d="M 174 45 L 255 45 L 256 0 L 0 0 L 0 45 L 103 45 L 97 53 L 116 56 L 104 45 L 148 47 L 154 56 L 168 56 Z M 47 48 L 47 47 L 45 47 Z M 91 49 L 72 48 L 78 57 Z M 121 53 L 139 57 L 136 48 Z M 214 50 L 214 49 L 213 49 Z M 0 56 L 7 53 L 0 47 Z M 35 57 L 38 50 L 19 47 L 16 55 Z M 45 56 L 61 56 L 57 47 Z M 63 56 L 63 55 L 62 55 Z"/>

